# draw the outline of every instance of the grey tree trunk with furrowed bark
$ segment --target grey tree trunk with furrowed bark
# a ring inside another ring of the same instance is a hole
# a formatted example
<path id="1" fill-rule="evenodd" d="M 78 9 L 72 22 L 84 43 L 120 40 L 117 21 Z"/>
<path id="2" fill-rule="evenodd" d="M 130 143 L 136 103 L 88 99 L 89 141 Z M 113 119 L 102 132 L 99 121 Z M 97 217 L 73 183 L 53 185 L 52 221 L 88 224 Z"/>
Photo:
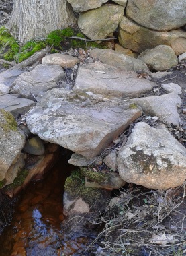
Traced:
<path id="1" fill-rule="evenodd" d="M 15 0 L 7 27 L 19 42 L 45 38 L 52 30 L 73 26 L 76 22 L 66 0 Z"/>

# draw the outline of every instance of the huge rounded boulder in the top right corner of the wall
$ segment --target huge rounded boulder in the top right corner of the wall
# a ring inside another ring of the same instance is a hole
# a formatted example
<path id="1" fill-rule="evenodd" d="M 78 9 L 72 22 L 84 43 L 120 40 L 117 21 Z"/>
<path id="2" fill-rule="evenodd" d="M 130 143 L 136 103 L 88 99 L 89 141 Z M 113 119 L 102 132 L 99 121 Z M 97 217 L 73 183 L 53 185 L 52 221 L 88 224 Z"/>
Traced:
<path id="1" fill-rule="evenodd" d="M 152 30 L 167 31 L 186 24 L 185 0 L 128 0 L 126 15 Z"/>

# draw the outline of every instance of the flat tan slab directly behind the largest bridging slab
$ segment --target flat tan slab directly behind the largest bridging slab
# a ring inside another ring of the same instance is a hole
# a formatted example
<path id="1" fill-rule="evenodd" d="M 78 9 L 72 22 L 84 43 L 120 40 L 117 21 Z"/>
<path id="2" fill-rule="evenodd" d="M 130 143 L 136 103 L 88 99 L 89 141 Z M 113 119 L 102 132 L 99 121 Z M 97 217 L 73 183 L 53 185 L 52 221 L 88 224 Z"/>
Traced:
<path id="1" fill-rule="evenodd" d="M 99 61 L 79 67 L 73 92 L 94 92 L 117 97 L 138 97 L 152 90 L 151 81 L 134 71 L 122 71 Z"/>

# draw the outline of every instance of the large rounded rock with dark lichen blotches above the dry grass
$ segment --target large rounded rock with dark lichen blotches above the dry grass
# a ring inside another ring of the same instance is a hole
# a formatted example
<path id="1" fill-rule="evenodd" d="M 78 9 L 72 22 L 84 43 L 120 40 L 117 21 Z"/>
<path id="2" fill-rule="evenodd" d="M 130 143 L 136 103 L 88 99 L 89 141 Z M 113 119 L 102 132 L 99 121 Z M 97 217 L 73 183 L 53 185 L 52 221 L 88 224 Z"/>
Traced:
<path id="1" fill-rule="evenodd" d="M 151 189 L 177 187 L 186 178 L 186 149 L 165 128 L 137 123 L 118 155 L 120 177 Z"/>

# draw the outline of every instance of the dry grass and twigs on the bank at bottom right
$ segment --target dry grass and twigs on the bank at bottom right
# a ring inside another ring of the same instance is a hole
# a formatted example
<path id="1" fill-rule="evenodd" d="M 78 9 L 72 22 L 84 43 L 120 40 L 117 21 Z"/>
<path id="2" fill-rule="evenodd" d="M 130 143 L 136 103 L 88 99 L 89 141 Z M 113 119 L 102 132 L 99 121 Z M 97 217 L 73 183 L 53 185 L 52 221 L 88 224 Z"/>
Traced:
<path id="1" fill-rule="evenodd" d="M 105 226 L 93 242 L 101 239 L 97 255 L 186 255 L 185 183 L 167 191 L 124 189 L 96 223 Z"/>

